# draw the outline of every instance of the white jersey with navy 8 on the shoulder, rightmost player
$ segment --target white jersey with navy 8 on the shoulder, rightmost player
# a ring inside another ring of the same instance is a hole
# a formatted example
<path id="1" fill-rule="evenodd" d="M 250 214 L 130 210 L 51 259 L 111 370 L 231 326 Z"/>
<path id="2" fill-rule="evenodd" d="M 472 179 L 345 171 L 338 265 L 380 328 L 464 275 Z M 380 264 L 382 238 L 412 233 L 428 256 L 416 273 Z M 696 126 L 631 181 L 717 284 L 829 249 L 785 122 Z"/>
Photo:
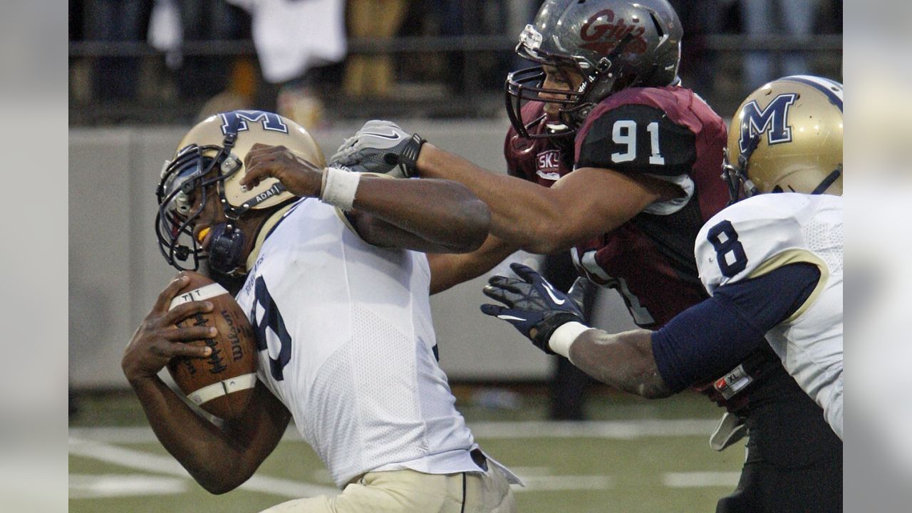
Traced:
<path id="1" fill-rule="evenodd" d="M 842 438 L 843 198 L 753 196 L 714 215 L 700 230 L 694 252 L 710 295 L 727 283 L 762 276 L 786 264 L 806 262 L 820 269 L 820 281 L 810 297 L 768 331 L 766 340 Z"/>

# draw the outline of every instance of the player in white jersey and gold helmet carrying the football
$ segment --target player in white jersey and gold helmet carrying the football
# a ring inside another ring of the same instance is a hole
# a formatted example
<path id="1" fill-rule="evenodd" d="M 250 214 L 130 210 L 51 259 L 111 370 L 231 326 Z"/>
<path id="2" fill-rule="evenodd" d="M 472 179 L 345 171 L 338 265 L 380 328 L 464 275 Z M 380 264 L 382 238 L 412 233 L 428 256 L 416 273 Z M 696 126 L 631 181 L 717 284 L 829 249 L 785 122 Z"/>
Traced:
<path id="1" fill-rule="evenodd" d="M 212 305 L 168 309 L 185 279 L 161 292 L 124 352 L 153 431 L 202 487 L 244 483 L 294 420 L 343 491 L 266 511 L 515 510 L 518 480 L 474 442 L 438 366 L 418 252 L 482 244 L 490 213 L 467 188 L 326 168 L 293 121 L 235 110 L 187 133 L 158 200 L 168 262 L 239 278 L 229 288 L 257 335 L 254 400 L 217 423 L 158 377 L 171 358 L 209 351 L 186 342 L 211 332 L 174 324 Z"/>

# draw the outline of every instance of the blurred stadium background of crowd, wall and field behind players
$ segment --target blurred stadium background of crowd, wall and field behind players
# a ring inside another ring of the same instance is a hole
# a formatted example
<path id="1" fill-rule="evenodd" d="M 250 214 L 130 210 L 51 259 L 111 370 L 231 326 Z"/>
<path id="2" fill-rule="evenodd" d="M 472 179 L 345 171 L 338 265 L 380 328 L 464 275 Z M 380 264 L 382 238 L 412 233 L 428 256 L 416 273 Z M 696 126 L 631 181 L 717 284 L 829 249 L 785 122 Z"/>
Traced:
<path id="1" fill-rule="evenodd" d="M 172 274 L 151 229 L 153 191 L 192 123 L 222 110 L 276 110 L 329 155 L 364 120 L 396 120 L 504 172 L 503 78 L 523 65 L 512 50 L 540 2 L 389 0 L 378 28 L 369 2 L 338 0 L 343 11 L 327 11 L 331 20 L 298 29 L 341 23 L 344 53 L 281 79 L 264 73 L 257 20 L 242 8 L 258 3 L 68 3 L 70 511 L 258 511 L 332 487 L 289 433 L 244 487 L 208 495 L 155 441 L 120 373 L 123 346 Z M 685 25 L 684 85 L 725 119 L 752 89 L 743 72 L 751 51 L 773 63 L 797 51 L 806 72 L 843 80 L 841 1 L 820 0 L 808 34 L 759 36 L 744 34 L 736 0 L 672 3 Z M 782 74 L 772 69 L 769 79 Z M 648 402 L 593 386 L 585 421 L 552 421 L 554 361 L 483 318 L 483 281 L 432 298 L 440 363 L 482 447 L 529 484 L 521 511 L 714 510 L 744 457 L 742 444 L 710 450 L 720 410 L 695 394 Z M 597 301 L 598 326 L 632 326 L 614 292 Z"/>

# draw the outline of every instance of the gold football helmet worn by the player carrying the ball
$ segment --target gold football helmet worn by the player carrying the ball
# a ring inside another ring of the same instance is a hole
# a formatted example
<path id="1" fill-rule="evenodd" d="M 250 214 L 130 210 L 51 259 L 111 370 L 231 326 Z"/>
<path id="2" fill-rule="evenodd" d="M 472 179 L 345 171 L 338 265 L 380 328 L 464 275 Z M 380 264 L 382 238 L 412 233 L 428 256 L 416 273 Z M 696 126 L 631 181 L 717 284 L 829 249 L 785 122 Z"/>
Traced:
<path id="1" fill-rule="evenodd" d="M 257 142 L 285 146 L 308 162 L 326 166 L 314 138 L 294 121 L 273 112 L 233 110 L 202 120 L 183 137 L 174 157 L 165 161 L 156 190 L 159 214 L 155 229 L 161 254 L 171 266 L 197 270 L 200 261 L 208 258 L 215 271 L 233 274 L 244 247 L 237 219 L 295 198 L 275 178 L 266 178 L 250 190 L 241 188 L 244 157 Z M 208 201 L 222 203 L 227 222 L 212 226 L 211 242 L 204 253 L 192 231 Z"/>

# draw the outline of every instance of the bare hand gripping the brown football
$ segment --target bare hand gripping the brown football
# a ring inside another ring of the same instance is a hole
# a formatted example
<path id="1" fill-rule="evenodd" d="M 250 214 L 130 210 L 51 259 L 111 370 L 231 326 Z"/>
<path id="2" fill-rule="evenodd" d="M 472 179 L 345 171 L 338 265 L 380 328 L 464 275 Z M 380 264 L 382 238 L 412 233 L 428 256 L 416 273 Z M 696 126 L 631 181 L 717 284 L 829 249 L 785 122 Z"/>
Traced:
<path id="1" fill-rule="evenodd" d="M 120 368 L 130 382 L 154 376 L 177 356 L 204 358 L 212 351 L 208 346 L 194 346 L 186 342 L 211 339 L 215 328 L 190 326 L 179 328 L 178 322 L 199 312 L 212 310 L 209 301 L 190 301 L 169 311 L 171 299 L 188 283 L 187 277 L 178 277 L 159 294 L 149 315 L 133 333 L 130 344 L 120 360 Z"/>

